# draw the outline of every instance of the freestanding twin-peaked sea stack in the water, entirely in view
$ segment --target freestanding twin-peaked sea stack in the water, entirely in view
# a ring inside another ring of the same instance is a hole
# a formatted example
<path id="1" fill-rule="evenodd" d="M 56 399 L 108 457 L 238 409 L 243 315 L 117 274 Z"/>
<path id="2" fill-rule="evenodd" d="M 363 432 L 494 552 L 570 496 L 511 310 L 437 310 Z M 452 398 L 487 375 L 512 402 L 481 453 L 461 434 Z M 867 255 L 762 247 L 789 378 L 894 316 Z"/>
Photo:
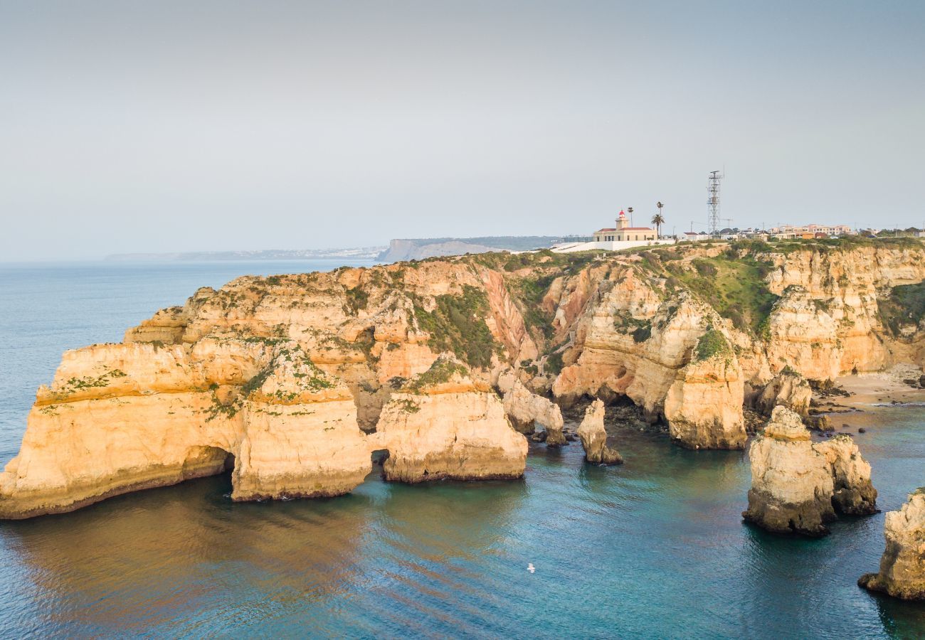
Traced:
<path id="1" fill-rule="evenodd" d="M 748 451 L 752 486 L 746 521 L 780 534 L 829 533 L 836 510 L 862 515 L 876 511 L 870 464 L 850 437 L 813 444 L 795 412 L 778 406 Z"/>

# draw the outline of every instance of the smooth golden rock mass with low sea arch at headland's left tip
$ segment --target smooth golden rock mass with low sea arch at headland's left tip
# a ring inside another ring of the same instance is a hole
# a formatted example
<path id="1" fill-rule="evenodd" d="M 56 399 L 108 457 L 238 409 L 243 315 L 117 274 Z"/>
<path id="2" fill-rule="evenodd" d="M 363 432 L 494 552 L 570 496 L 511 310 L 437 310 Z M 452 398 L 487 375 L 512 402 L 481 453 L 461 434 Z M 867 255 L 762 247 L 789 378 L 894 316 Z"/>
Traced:
<path id="1" fill-rule="evenodd" d="M 0 516 L 72 511 L 231 462 L 235 499 L 332 496 L 363 481 L 370 449 L 352 397 L 297 345 L 197 347 L 198 360 L 139 343 L 68 351 L 0 474 Z"/>

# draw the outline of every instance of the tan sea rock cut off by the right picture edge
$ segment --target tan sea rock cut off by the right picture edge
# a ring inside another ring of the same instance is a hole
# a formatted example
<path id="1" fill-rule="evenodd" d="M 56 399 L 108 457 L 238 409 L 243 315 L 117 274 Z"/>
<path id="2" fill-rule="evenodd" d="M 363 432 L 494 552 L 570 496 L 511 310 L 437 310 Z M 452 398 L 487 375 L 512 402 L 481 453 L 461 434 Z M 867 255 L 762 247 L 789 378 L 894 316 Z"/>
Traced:
<path id="1" fill-rule="evenodd" d="M 886 549 L 880 571 L 857 584 L 905 600 L 925 599 L 925 489 L 911 494 L 899 511 L 889 511 L 883 527 Z"/>

